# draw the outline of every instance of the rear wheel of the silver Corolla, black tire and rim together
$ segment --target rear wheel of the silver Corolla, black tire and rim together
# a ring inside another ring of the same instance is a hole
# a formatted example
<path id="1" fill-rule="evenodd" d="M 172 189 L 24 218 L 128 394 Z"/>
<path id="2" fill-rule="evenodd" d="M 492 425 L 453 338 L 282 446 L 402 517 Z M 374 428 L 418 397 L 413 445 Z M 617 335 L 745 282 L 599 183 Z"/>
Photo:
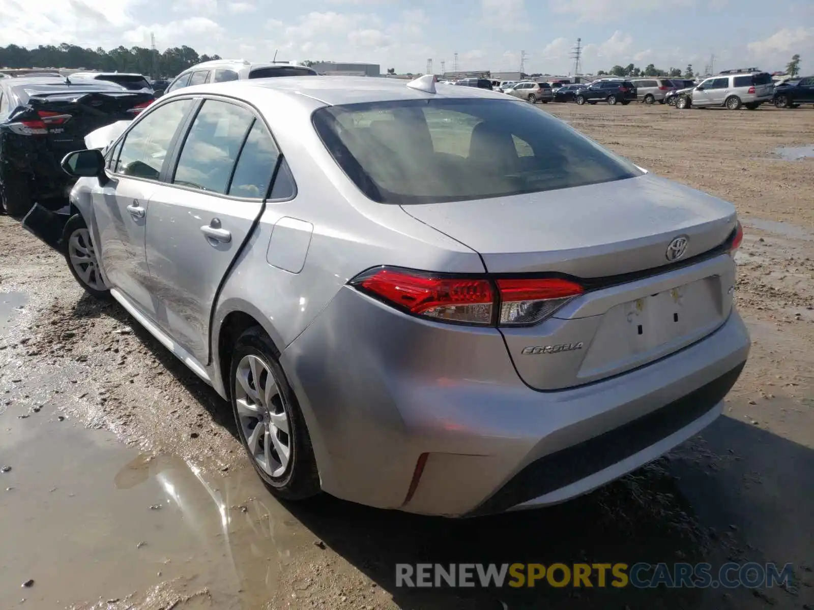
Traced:
<path id="1" fill-rule="evenodd" d="M 279 351 L 260 326 L 247 329 L 234 346 L 230 399 L 240 442 L 269 490 L 288 500 L 320 493 L 300 404 L 280 366 Z"/>

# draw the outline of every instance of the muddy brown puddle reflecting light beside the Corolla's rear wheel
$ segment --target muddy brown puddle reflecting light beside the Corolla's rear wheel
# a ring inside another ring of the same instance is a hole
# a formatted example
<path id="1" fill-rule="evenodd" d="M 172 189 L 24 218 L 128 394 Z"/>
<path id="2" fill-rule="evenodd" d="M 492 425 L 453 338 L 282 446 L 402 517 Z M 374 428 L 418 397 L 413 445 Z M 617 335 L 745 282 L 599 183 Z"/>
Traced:
<path id="1" fill-rule="evenodd" d="M 2 418 L 0 608 L 265 607 L 304 528 L 251 469 L 213 480 L 60 413 Z"/>

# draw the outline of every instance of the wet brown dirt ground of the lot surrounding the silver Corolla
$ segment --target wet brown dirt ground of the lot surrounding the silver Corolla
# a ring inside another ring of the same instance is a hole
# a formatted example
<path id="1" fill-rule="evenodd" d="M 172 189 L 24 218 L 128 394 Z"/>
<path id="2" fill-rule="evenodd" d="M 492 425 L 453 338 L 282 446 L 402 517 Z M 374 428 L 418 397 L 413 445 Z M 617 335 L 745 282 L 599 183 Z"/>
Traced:
<path id="1" fill-rule="evenodd" d="M 0 216 L 0 608 L 814 607 L 814 110 L 548 104 L 642 168 L 732 201 L 754 340 L 724 417 L 602 490 L 448 521 L 280 503 L 230 408 Z M 612 202 L 609 202 L 612 205 Z M 395 564 L 794 564 L 733 590 L 405 590 Z M 28 582 L 28 581 L 33 582 Z M 28 586 L 23 586 L 24 584 Z"/>

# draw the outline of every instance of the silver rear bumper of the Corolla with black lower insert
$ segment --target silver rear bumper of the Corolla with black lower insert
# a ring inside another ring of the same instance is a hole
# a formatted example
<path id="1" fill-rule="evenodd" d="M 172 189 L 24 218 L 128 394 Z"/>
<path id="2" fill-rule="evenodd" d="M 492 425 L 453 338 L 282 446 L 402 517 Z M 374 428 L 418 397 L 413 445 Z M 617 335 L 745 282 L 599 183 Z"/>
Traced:
<path id="1" fill-rule="evenodd" d="M 540 392 L 520 381 L 497 329 L 418 320 L 345 288 L 281 362 L 323 490 L 466 516 L 562 502 L 669 451 L 720 414 L 749 346 L 733 311 L 666 358 Z"/>

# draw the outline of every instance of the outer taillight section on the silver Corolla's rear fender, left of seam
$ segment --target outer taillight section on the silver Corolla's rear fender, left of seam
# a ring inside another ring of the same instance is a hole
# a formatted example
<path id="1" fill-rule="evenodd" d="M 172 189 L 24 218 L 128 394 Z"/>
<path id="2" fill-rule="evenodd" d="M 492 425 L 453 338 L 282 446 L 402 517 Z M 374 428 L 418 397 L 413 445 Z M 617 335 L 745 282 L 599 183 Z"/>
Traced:
<path id="1" fill-rule="evenodd" d="M 466 324 L 492 323 L 495 298 L 488 280 L 379 268 L 355 278 L 352 285 L 413 314 Z"/>

